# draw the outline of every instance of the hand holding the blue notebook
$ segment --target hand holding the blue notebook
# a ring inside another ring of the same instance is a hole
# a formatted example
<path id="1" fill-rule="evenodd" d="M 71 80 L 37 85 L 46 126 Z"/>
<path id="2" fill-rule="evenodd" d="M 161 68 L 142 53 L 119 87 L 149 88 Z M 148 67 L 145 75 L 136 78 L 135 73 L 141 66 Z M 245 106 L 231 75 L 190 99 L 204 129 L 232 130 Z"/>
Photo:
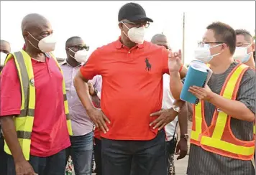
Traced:
<path id="1" fill-rule="evenodd" d="M 211 91 L 210 87 L 206 85 L 206 87 L 198 87 L 198 86 L 191 86 L 188 89 L 188 92 L 192 93 L 196 96 L 199 100 L 206 100 L 209 101 L 213 97 L 214 93 Z"/>

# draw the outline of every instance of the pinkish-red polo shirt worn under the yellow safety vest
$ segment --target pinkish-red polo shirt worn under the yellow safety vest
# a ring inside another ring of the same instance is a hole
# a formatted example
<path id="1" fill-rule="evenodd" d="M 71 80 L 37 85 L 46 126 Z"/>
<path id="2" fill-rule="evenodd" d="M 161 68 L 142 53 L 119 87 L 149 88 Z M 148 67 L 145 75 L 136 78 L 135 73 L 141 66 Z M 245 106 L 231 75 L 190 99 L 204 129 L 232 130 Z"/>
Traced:
<path id="1" fill-rule="evenodd" d="M 63 103 L 63 75 L 52 58 L 32 59 L 35 78 L 35 119 L 31 136 L 32 156 L 47 157 L 70 146 Z M 14 59 L 1 74 L 0 116 L 19 115 L 21 87 Z"/>

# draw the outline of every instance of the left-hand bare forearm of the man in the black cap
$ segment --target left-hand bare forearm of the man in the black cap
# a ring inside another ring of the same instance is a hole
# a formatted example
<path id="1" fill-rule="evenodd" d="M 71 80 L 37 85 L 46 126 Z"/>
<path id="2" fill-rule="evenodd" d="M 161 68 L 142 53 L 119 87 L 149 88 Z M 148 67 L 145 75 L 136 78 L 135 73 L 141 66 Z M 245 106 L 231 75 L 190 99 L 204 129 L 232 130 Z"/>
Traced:
<path id="1" fill-rule="evenodd" d="M 76 75 L 76 77 L 74 78 L 74 86 L 76 88 L 76 93 L 78 94 L 78 97 L 83 104 L 83 107 L 86 108 L 87 111 L 95 108 L 91 101 L 88 84 L 80 76 L 80 72 L 78 72 L 78 75 Z"/>

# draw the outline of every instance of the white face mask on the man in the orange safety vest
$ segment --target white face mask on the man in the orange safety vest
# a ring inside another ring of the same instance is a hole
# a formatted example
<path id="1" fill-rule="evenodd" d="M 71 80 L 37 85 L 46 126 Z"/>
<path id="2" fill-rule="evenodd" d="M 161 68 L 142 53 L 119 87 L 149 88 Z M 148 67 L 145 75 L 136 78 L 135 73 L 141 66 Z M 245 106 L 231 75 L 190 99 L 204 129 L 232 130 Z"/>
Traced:
<path id="1" fill-rule="evenodd" d="M 217 47 L 221 44 L 217 44 L 213 47 Z M 217 53 L 215 55 L 211 55 L 211 51 L 210 51 L 210 48 L 213 48 L 213 47 L 210 47 L 209 44 L 204 44 L 204 47 L 198 47 L 195 49 L 195 57 L 197 60 L 200 60 L 201 62 L 204 62 L 204 63 L 209 63 L 213 58 L 214 56 L 216 55 L 219 55 L 220 53 Z"/>

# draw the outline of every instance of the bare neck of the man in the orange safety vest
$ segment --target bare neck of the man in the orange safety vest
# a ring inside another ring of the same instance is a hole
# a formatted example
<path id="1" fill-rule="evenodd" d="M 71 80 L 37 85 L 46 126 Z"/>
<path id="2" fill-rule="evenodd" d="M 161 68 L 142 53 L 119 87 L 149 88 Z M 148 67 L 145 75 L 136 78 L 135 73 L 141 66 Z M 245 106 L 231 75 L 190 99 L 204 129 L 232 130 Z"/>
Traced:
<path id="1" fill-rule="evenodd" d="M 229 68 L 232 62 L 234 62 L 232 56 L 230 56 L 228 59 L 227 57 L 219 57 L 216 62 L 210 64 L 210 68 L 214 74 L 221 74 Z"/>

